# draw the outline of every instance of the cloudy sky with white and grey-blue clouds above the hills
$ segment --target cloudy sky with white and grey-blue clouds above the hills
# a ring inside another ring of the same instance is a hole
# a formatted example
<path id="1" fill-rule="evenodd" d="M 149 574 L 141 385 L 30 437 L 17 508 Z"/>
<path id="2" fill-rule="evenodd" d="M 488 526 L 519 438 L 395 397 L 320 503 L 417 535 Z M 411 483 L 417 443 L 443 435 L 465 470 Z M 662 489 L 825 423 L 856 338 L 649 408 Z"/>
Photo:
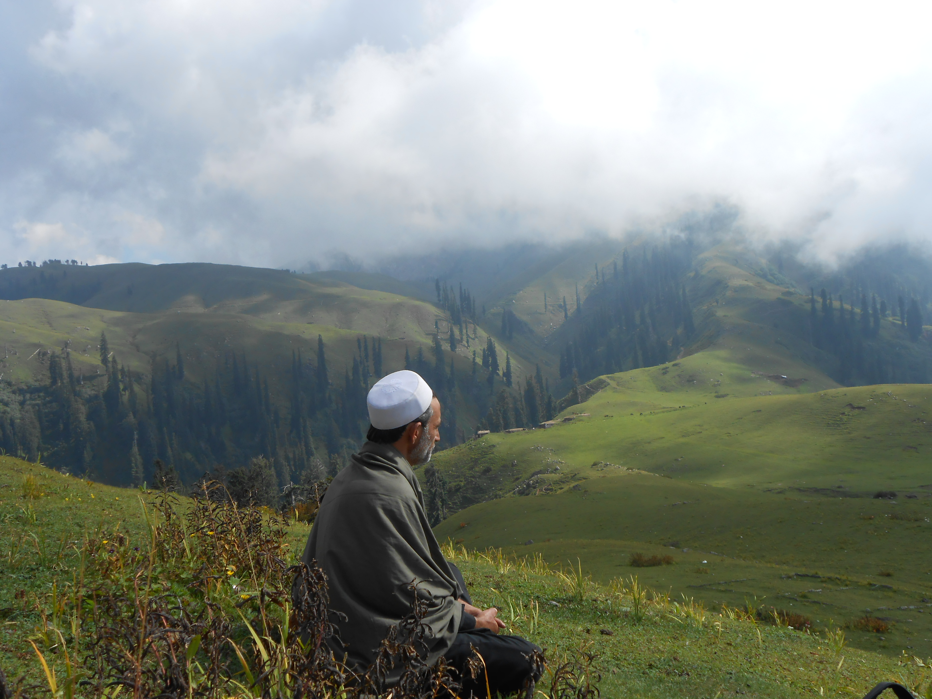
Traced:
<path id="1" fill-rule="evenodd" d="M 300 267 L 728 202 L 932 238 L 927 4 L 0 0 L 0 262 Z"/>

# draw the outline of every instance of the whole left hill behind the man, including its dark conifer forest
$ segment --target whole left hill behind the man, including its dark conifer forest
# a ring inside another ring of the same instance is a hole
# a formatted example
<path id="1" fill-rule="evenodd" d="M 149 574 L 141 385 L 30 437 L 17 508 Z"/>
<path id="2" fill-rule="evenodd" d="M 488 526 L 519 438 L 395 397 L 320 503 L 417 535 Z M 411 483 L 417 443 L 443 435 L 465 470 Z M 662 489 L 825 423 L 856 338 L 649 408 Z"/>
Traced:
<path id="1" fill-rule="evenodd" d="M 386 290 L 404 282 L 350 277 L 370 288 L 218 265 L 2 270 L 0 446 L 121 484 L 138 477 L 134 440 L 143 479 L 157 458 L 191 481 L 266 454 L 284 485 L 308 464 L 335 473 L 362 438 L 366 388 L 405 366 L 445 397 L 447 444 L 462 441 L 487 411 L 487 372 L 473 373 L 487 334 L 468 322 L 454 350 L 445 311 Z"/>

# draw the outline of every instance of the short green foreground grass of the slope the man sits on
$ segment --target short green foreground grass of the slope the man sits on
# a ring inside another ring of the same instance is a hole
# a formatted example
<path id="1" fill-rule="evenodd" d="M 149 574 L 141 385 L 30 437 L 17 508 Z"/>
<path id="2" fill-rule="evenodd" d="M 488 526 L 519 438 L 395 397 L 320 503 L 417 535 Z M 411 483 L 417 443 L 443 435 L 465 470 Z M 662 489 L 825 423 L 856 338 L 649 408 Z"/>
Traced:
<path id="1" fill-rule="evenodd" d="M 69 620 L 59 615 L 67 609 L 84 541 L 122 533 L 129 539 L 123 549 L 144 547 L 143 507 L 151 512 L 152 500 L 152 494 L 139 490 L 88 483 L 0 458 L 0 519 L 5 523 L 0 663 L 7 678 L 24 676 L 27 683 L 45 684 L 27 638 L 57 669 L 60 681 L 64 678 L 54 628 L 62 628 L 68 651 L 74 652 Z M 289 557 L 301 551 L 307 535 L 303 524 L 287 529 Z M 547 649 L 551 671 L 563 659 L 584 660 L 580 651 L 591 653 L 592 663 L 580 669 L 588 669 L 605 697 L 859 696 L 882 679 L 899 679 L 918 690 L 930 679 L 927 667 L 900 665 L 832 641 L 828 624 L 804 633 L 742 621 L 741 610 L 707 610 L 652 593 L 637 596 L 643 605 L 639 613 L 630 582 L 614 587 L 572 583 L 540 560 L 517 561 L 494 551 L 477 555 L 448 548 L 447 554 L 463 570 L 477 604 L 498 606 L 511 633 Z M 171 576 L 171 571 L 159 571 L 159 576 Z M 232 595 L 226 581 L 217 583 L 214 601 L 223 604 L 225 595 Z M 248 651 L 245 642 L 243 648 Z M 539 689 L 549 696 L 546 679 Z"/>

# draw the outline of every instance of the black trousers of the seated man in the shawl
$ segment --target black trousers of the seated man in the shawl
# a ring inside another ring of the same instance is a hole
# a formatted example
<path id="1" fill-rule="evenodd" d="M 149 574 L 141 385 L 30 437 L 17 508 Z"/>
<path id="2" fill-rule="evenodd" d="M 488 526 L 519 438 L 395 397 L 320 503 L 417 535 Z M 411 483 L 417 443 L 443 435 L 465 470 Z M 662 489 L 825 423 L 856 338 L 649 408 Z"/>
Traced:
<path id="1" fill-rule="evenodd" d="M 462 573 L 452 563 L 450 569 L 465 591 L 466 583 Z M 463 599 L 472 604 L 469 592 L 466 592 Z M 480 671 L 475 679 L 466 671 L 466 662 L 473 654 L 473 648 L 485 663 L 485 670 Z M 464 698 L 487 697 L 487 680 L 488 692 L 491 692 L 492 696 L 496 693 L 518 692 L 528 687 L 533 690 L 534 682 L 540 679 L 535 677 L 537 672 L 531 663 L 530 656 L 534 651 L 540 652 L 541 649 L 522 637 L 502 636 L 486 628 L 474 628 L 460 631 L 444 657 L 459 672 Z"/>

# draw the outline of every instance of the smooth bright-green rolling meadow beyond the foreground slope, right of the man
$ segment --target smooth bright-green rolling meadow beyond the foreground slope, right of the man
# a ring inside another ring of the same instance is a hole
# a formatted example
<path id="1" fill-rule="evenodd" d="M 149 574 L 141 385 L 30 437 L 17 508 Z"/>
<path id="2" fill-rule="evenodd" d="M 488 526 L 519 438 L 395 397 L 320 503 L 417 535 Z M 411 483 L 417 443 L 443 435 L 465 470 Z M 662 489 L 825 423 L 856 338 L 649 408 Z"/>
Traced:
<path id="1" fill-rule="evenodd" d="M 566 411 L 588 417 L 438 455 L 454 505 L 473 505 L 438 536 L 579 556 L 603 582 L 640 572 L 708 604 L 766 596 L 848 623 L 871 610 L 896 625 L 852 632 L 859 645 L 932 652 L 932 388 L 755 374 L 747 351 L 603 377 Z M 676 564 L 638 571 L 637 552 Z"/>

